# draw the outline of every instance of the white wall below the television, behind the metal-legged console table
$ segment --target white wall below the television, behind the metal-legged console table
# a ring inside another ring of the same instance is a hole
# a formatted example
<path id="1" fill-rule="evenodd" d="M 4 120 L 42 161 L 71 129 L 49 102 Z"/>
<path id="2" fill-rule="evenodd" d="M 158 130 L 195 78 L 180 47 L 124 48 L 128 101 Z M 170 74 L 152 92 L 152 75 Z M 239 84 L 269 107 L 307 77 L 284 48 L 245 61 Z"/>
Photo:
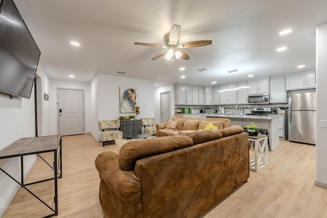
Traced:
<path id="1" fill-rule="evenodd" d="M 36 74 L 44 81 L 41 92 L 48 91 L 49 78 L 45 74 L 41 64 L 39 64 Z M 46 104 L 42 104 L 42 111 L 46 110 Z M 0 92 L 0 150 L 9 146 L 19 138 L 35 136 L 35 112 L 34 112 L 34 88 L 31 98 L 24 99 L 13 97 L 9 99 L 8 94 Z M 44 115 L 43 132 L 49 127 L 49 122 Z M 24 177 L 32 168 L 36 161 L 35 155 L 24 158 Z M 0 160 L 0 166 L 14 178 L 20 180 L 20 161 L 19 158 Z M 7 175 L 0 173 L 0 217 L 5 212 L 12 198 L 15 196 L 19 186 L 12 181 Z"/>

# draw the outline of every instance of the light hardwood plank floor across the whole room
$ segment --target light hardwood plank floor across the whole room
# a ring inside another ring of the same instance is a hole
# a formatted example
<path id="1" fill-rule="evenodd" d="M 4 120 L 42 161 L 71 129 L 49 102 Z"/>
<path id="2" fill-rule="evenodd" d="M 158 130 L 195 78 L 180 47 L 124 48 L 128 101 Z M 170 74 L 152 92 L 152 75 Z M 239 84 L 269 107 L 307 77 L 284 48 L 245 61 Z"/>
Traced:
<path id="1" fill-rule="evenodd" d="M 63 178 L 58 180 L 57 217 L 103 217 L 98 199 L 97 155 L 116 152 L 114 143 L 97 143 L 90 135 L 62 137 Z M 251 156 L 254 151 L 251 149 Z M 43 157 L 43 156 L 42 156 Z M 51 161 L 52 155 L 45 155 Z M 38 158 L 26 182 L 51 177 Z M 241 184 L 202 217 L 327 217 L 327 189 L 315 186 L 315 147 L 279 141 L 268 153 L 268 166 L 252 172 Z M 29 186 L 53 205 L 53 181 Z M 20 188 L 3 217 L 40 217 L 52 211 Z"/>

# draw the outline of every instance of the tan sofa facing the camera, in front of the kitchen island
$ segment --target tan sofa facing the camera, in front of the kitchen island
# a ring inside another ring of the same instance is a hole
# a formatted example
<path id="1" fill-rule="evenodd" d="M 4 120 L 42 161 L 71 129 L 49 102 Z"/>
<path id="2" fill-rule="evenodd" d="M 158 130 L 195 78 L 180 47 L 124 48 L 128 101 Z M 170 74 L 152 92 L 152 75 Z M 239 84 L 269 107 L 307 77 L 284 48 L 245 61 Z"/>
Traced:
<path id="1" fill-rule="evenodd" d="M 196 118 L 188 116 L 174 116 L 173 121 L 178 122 L 176 130 L 165 129 L 165 124 L 156 124 L 157 137 L 159 136 L 172 136 L 184 135 L 184 132 L 202 130 L 205 125 L 212 123 L 214 126 L 219 126 L 220 129 L 229 127 L 230 120 L 226 118 Z"/>

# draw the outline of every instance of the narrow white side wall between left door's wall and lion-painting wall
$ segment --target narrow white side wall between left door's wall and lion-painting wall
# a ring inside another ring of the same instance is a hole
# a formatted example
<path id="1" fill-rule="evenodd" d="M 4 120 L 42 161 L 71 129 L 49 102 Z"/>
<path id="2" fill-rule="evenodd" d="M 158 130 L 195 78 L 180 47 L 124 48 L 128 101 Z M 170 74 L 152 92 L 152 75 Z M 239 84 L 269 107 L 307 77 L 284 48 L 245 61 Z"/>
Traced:
<path id="1" fill-rule="evenodd" d="M 99 125 L 98 125 L 98 75 L 96 75 L 90 82 L 90 96 L 91 96 L 91 123 L 90 133 L 99 140 Z"/>

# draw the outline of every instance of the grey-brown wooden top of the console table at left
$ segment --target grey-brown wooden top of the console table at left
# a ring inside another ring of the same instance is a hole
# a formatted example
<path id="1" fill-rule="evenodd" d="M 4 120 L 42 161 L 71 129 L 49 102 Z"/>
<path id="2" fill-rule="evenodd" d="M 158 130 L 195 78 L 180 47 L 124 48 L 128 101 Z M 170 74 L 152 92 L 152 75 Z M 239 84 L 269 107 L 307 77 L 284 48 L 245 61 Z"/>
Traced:
<path id="1" fill-rule="evenodd" d="M 0 150 L 0 159 L 55 151 L 61 135 L 21 138 Z"/>

